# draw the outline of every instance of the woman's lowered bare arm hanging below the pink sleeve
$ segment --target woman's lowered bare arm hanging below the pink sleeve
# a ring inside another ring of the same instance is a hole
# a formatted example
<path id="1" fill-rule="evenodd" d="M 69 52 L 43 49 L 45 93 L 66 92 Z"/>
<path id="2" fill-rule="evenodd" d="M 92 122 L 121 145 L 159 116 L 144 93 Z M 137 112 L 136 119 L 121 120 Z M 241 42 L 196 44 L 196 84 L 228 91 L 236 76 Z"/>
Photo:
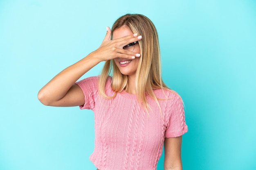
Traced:
<path id="1" fill-rule="evenodd" d="M 165 138 L 164 170 L 182 170 L 181 142 L 182 136 Z"/>

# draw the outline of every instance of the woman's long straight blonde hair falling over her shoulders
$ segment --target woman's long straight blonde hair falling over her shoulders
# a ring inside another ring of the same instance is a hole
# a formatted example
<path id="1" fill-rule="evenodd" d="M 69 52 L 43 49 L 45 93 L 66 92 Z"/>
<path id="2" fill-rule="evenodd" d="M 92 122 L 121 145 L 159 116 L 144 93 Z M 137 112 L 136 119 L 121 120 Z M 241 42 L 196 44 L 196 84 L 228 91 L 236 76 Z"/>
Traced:
<path id="1" fill-rule="evenodd" d="M 126 14 L 119 17 L 113 24 L 112 33 L 124 25 L 128 26 L 133 33 L 142 35 L 142 39 L 139 40 L 141 57 L 139 58 L 135 76 L 137 100 L 148 112 L 148 108 L 150 108 L 146 100 L 146 94 L 148 94 L 157 102 L 160 108 L 158 98 L 155 96 L 153 89 L 168 89 L 168 87 L 162 81 L 159 41 L 155 25 L 144 15 Z M 105 93 L 106 80 L 111 72 L 111 86 L 115 92 L 114 96 L 108 96 Z M 115 98 L 117 93 L 126 90 L 127 86 L 128 76 L 121 74 L 113 60 L 106 61 L 99 78 L 99 93 L 101 96 L 108 99 Z"/>

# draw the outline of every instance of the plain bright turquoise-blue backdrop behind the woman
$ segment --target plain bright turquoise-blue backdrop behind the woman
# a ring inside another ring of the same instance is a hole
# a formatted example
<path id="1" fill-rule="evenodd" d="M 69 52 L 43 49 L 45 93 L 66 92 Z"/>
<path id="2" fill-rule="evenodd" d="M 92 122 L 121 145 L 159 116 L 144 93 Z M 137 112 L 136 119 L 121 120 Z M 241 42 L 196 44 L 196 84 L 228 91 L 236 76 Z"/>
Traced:
<path id="1" fill-rule="evenodd" d="M 255 0 L 0 0 L 0 170 L 96 169 L 93 112 L 37 93 L 126 13 L 154 22 L 164 81 L 184 100 L 183 169 L 255 170 Z"/>

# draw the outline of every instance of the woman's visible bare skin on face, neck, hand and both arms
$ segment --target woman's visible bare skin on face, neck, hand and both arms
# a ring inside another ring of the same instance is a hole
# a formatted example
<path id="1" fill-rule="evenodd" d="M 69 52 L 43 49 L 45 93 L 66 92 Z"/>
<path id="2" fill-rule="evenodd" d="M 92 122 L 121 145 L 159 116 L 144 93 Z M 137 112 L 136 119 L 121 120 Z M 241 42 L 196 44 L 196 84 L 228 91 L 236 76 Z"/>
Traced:
<path id="1" fill-rule="evenodd" d="M 49 81 L 38 92 L 38 99 L 48 106 L 79 106 L 85 103 L 81 88 L 74 83 L 83 74 L 88 72 L 101 61 L 114 59 L 122 74 L 128 75 L 127 92 L 135 94 L 135 73 L 139 63 L 140 48 L 135 45 L 133 52 L 124 50 L 123 47 L 129 43 L 140 40 L 142 37 L 133 34 L 130 28 L 122 26 L 113 32 L 110 40 L 111 30 L 107 27 L 107 33 L 99 48 L 80 61 L 65 68 Z M 120 61 L 131 62 L 126 67 L 120 66 Z M 164 141 L 164 170 L 182 170 L 181 163 L 182 137 L 166 138 Z"/>

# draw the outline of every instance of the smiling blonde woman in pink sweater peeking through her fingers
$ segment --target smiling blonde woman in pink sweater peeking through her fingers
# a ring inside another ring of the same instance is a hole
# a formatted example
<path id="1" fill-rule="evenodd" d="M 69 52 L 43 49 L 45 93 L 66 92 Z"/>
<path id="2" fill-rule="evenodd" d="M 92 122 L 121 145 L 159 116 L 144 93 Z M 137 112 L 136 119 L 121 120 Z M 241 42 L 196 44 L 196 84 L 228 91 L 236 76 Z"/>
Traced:
<path id="1" fill-rule="evenodd" d="M 77 82 L 102 61 L 100 76 Z M 126 14 L 107 27 L 101 46 L 52 78 L 38 98 L 94 111 L 90 160 L 99 170 L 156 170 L 163 145 L 164 170 L 182 170 L 183 103 L 162 81 L 157 31 L 144 15 Z"/>

